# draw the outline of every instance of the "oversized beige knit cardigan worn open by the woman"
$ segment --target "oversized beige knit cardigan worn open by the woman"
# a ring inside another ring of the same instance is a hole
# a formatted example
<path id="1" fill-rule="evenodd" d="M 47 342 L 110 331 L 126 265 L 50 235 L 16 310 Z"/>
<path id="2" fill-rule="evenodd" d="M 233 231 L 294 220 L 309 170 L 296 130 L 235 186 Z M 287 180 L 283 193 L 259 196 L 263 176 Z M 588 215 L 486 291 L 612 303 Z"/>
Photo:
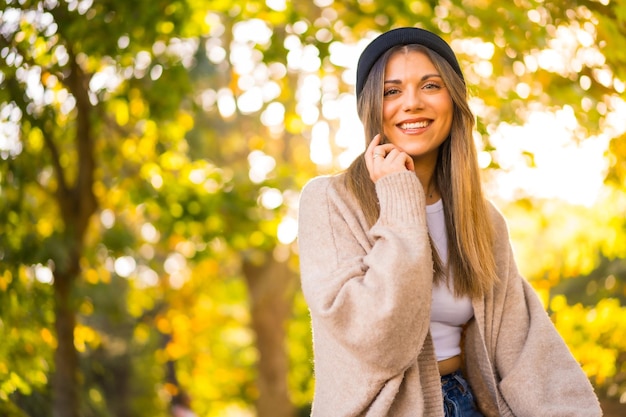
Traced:
<path id="1" fill-rule="evenodd" d="M 376 182 L 369 228 L 343 175 L 303 189 L 302 289 L 313 327 L 313 416 L 443 416 L 430 337 L 433 262 L 425 198 L 411 173 Z M 473 302 L 465 373 L 486 416 L 600 416 L 598 400 L 531 286 L 494 208 L 501 282 Z"/>

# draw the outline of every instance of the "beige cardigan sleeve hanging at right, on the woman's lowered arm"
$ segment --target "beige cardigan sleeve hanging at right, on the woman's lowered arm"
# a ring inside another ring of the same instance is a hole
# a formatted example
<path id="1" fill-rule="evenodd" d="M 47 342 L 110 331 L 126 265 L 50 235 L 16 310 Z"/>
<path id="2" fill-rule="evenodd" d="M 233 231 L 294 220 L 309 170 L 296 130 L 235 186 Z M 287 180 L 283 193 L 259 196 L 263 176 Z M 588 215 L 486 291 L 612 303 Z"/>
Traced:
<path id="1" fill-rule="evenodd" d="M 501 246 L 498 262 L 506 278 L 495 303 L 501 308 L 494 322 L 499 328 L 495 365 L 511 415 L 600 416 L 589 380 L 517 269 L 502 218 L 496 223 L 496 234 Z"/>

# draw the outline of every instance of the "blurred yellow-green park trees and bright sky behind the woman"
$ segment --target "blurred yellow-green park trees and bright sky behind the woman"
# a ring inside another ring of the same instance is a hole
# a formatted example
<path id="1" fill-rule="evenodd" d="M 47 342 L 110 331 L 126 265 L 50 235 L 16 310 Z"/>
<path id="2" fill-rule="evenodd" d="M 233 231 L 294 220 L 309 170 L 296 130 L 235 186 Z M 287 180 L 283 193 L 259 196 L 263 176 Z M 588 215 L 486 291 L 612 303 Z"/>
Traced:
<path id="1" fill-rule="evenodd" d="M 626 415 L 626 1 L 3 3 L 0 415 L 308 415 L 299 190 L 397 26 L 457 52 L 519 268 Z"/>

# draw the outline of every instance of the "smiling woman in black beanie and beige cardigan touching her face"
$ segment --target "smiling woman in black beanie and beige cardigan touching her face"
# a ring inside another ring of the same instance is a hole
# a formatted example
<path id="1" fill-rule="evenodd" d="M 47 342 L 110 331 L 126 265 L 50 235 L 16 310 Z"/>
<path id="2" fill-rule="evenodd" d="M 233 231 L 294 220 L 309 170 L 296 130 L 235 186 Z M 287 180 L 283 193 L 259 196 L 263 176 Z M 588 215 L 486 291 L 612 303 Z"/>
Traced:
<path id="1" fill-rule="evenodd" d="M 483 197 L 449 45 L 384 33 L 359 59 L 356 93 L 366 151 L 300 202 L 312 414 L 601 415 Z"/>

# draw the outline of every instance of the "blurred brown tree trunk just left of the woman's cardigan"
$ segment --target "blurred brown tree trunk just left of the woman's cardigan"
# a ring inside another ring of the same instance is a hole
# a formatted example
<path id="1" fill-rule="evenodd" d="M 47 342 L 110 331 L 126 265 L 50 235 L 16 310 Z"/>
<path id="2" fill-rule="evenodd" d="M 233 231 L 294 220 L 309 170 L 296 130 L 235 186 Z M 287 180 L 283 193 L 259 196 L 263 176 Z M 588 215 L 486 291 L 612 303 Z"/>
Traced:
<path id="1" fill-rule="evenodd" d="M 246 262 L 243 270 L 259 350 L 257 416 L 293 417 L 295 407 L 287 387 L 286 324 L 292 311 L 296 275 L 271 253 L 262 265 Z"/>

